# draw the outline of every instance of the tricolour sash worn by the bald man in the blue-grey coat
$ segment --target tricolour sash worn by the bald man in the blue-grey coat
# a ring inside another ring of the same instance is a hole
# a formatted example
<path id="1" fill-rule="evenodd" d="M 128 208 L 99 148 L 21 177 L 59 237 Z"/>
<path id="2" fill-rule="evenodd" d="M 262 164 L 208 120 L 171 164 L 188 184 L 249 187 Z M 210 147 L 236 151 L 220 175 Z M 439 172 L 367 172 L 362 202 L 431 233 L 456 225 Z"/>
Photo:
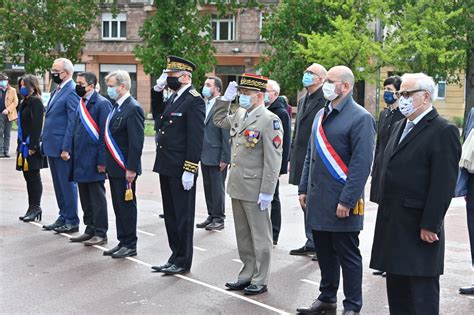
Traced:
<path id="1" fill-rule="evenodd" d="M 340 183 L 345 184 L 347 180 L 348 168 L 339 154 L 329 143 L 323 129 L 324 112 L 313 124 L 314 142 L 321 160 L 329 173 Z"/>

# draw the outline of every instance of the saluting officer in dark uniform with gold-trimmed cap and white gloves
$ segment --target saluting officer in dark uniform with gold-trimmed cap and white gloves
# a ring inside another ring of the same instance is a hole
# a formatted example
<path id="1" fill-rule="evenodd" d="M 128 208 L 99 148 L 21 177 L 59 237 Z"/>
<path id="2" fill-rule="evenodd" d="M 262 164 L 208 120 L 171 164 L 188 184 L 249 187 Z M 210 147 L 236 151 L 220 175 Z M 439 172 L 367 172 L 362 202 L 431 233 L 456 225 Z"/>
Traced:
<path id="1" fill-rule="evenodd" d="M 158 122 L 156 159 L 153 171 L 160 174 L 161 196 L 168 243 L 172 254 L 153 270 L 166 274 L 187 273 L 193 259 L 196 176 L 204 138 L 205 105 L 192 86 L 196 66 L 183 58 L 169 56 L 166 82 L 175 93 L 168 99 Z"/>

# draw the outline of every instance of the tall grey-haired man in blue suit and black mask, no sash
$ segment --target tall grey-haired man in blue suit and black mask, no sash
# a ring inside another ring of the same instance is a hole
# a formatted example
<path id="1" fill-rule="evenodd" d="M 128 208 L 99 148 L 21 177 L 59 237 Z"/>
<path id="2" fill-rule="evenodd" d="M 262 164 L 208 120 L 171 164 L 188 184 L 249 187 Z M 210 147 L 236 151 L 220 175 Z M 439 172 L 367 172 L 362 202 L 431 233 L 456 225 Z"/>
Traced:
<path id="1" fill-rule="evenodd" d="M 48 102 L 42 136 L 42 148 L 48 157 L 59 207 L 59 217 L 54 223 L 43 225 L 43 229 L 58 233 L 79 231 L 77 185 L 69 181 L 73 129 L 79 105 L 79 96 L 74 91 L 76 85 L 72 80 L 73 73 L 74 66 L 70 60 L 59 58 L 54 61 L 51 75 L 57 87 Z"/>

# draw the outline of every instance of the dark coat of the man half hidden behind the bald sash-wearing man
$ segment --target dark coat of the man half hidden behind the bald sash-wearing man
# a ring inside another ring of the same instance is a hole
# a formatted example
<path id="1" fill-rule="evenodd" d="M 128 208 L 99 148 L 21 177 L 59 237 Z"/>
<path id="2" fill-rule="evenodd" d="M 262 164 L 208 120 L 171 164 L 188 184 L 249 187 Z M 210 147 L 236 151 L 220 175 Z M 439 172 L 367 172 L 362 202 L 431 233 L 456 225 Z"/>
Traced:
<path id="1" fill-rule="evenodd" d="M 303 105 L 306 102 L 305 110 Z M 303 172 L 304 158 L 308 148 L 309 137 L 313 126 L 314 116 L 326 104 L 323 89 L 319 88 L 313 94 L 306 94 L 298 101 L 298 112 L 296 113 L 295 131 L 291 139 L 290 152 L 290 177 L 289 183 L 299 185 L 301 173 Z"/>

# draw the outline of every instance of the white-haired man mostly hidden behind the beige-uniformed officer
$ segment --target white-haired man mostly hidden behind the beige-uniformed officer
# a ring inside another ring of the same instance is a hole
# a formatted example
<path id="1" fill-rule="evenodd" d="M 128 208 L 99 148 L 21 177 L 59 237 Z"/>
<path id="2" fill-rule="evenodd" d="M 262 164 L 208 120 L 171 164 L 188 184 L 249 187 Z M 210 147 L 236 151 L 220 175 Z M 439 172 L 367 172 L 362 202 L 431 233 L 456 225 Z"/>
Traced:
<path id="1" fill-rule="evenodd" d="M 288 104 L 280 95 L 280 86 L 274 80 L 268 80 L 265 92 L 265 107 L 280 118 L 283 127 L 283 153 L 281 156 L 280 175 L 288 172 L 288 156 L 291 142 L 291 119 L 288 115 Z M 272 200 L 271 220 L 273 245 L 277 245 L 281 228 L 280 180 L 277 181 Z"/>

